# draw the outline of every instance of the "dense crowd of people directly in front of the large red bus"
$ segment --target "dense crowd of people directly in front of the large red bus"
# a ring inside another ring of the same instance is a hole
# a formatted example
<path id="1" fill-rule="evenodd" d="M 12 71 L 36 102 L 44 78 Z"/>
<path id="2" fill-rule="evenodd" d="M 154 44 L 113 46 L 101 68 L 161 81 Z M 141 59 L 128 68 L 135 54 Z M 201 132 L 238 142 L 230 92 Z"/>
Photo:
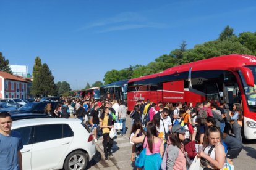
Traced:
<path id="1" fill-rule="evenodd" d="M 242 150 L 239 104 L 229 111 L 223 101 L 205 101 L 195 107 L 177 102 L 174 107 L 139 100 L 130 118 L 130 159 L 137 169 L 189 169 L 195 158 L 200 158 L 203 169 L 222 169 L 233 164 Z M 141 166 L 144 148 L 145 164 Z"/>

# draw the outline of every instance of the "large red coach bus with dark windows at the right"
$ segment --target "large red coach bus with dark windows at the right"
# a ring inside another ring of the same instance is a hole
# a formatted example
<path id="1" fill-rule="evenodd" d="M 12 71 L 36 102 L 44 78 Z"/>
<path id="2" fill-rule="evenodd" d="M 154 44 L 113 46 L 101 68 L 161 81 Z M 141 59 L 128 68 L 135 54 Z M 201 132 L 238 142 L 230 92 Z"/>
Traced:
<path id="1" fill-rule="evenodd" d="M 193 105 L 204 100 L 224 100 L 230 108 L 240 103 L 244 113 L 244 136 L 256 139 L 256 57 L 231 54 L 168 68 L 153 75 L 130 79 L 128 110 L 137 100 Z"/>

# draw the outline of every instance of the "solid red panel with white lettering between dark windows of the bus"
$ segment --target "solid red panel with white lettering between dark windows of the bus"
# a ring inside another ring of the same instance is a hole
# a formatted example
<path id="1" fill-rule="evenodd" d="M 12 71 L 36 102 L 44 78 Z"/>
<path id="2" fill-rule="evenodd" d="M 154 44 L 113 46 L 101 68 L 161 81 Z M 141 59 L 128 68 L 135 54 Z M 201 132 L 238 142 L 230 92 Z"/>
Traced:
<path id="1" fill-rule="evenodd" d="M 163 83 L 164 103 L 176 103 L 184 101 L 184 81 L 169 81 Z"/>

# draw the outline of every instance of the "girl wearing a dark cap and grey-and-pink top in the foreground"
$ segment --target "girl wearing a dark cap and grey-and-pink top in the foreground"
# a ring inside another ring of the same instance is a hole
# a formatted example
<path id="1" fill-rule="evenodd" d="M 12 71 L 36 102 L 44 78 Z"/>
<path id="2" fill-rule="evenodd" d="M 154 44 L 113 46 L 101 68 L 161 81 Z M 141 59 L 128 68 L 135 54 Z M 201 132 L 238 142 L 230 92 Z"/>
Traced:
<path id="1" fill-rule="evenodd" d="M 169 136 L 171 144 L 168 145 L 166 153 L 164 153 L 168 155 L 163 156 L 162 169 L 187 169 L 184 145 L 182 144 L 185 139 L 185 132 L 187 130 L 180 124 L 175 124 L 171 128 L 171 135 Z"/>

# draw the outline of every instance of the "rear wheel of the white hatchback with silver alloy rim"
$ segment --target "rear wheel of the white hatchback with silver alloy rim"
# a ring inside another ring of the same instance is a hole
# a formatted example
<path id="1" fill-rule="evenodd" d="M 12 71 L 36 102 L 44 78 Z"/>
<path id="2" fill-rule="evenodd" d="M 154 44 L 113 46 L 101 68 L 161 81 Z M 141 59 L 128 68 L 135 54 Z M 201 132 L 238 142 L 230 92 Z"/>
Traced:
<path id="1" fill-rule="evenodd" d="M 65 170 L 82 170 L 85 169 L 88 163 L 87 154 L 82 151 L 75 151 L 70 153 L 65 162 Z"/>

